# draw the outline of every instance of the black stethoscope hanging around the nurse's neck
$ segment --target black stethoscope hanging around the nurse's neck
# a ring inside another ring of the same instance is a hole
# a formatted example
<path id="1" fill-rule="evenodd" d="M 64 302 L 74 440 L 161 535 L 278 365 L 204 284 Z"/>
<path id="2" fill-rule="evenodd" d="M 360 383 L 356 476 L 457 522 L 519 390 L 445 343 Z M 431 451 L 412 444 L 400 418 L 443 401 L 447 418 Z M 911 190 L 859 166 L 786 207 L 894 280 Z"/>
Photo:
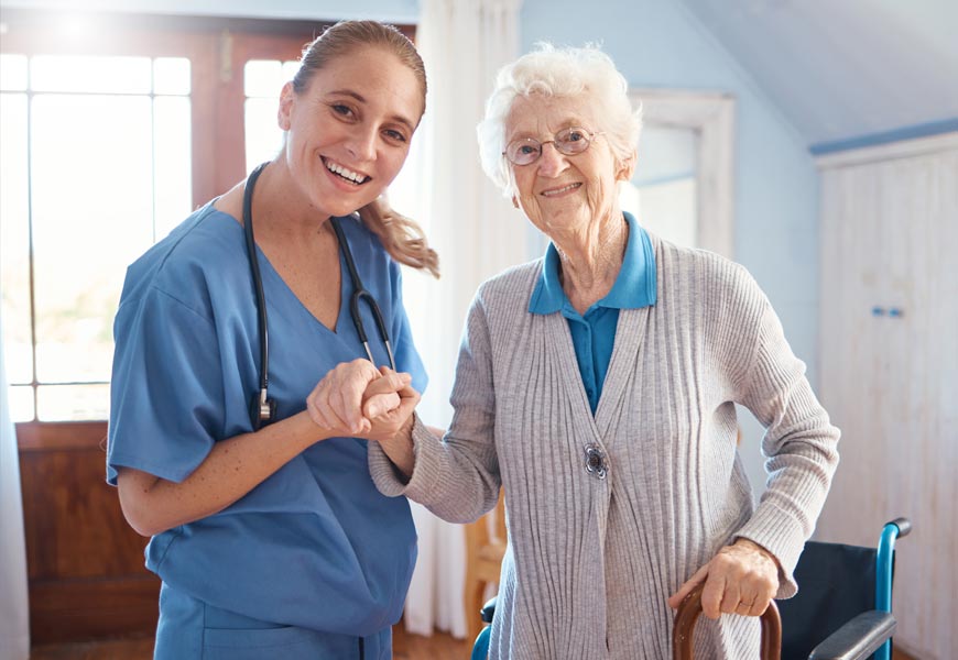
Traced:
<path id="1" fill-rule="evenodd" d="M 252 421 L 253 430 L 257 431 L 265 425 L 275 421 L 276 419 L 276 402 L 266 395 L 269 387 L 269 366 L 270 366 L 270 336 L 266 324 L 266 297 L 263 294 L 263 278 L 260 276 L 260 261 L 257 256 L 257 243 L 253 240 L 253 187 L 257 185 L 257 179 L 263 172 L 263 168 L 269 163 L 262 163 L 250 173 L 247 179 L 246 191 L 243 193 L 243 230 L 247 238 L 247 256 L 250 261 L 250 273 L 253 276 L 253 289 L 257 296 L 257 312 L 258 312 L 258 330 L 260 336 L 260 391 L 253 394 L 250 402 L 250 421 Z M 362 279 L 359 278 L 359 272 L 356 270 L 356 262 L 352 261 L 352 252 L 349 250 L 349 243 L 346 241 L 346 234 L 342 232 L 342 227 L 339 224 L 338 218 L 330 218 L 333 231 L 336 232 L 336 241 L 339 243 L 339 251 L 342 253 L 342 258 L 346 261 L 346 267 L 349 271 L 349 277 L 352 280 L 352 296 L 349 300 L 349 314 L 352 317 L 352 324 L 356 327 L 356 333 L 359 336 L 359 341 L 366 349 L 366 354 L 369 361 L 375 364 L 372 359 L 372 351 L 369 349 L 369 340 L 366 337 L 366 328 L 362 324 L 362 317 L 359 314 L 359 301 L 366 299 L 370 311 L 375 319 L 375 326 L 379 328 L 379 336 L 382 338 L 382 343 L 385 344 L 385 352 L 389 354 L 389 365 L 393 371 L 395 369 L 395 359 L 392 354 L 392 346 L 389 343 L 389 332 L 385 329 L 385 323 L 382 320 L 382 312 L 372 294 L 366 290 L 362 286 Z"/>

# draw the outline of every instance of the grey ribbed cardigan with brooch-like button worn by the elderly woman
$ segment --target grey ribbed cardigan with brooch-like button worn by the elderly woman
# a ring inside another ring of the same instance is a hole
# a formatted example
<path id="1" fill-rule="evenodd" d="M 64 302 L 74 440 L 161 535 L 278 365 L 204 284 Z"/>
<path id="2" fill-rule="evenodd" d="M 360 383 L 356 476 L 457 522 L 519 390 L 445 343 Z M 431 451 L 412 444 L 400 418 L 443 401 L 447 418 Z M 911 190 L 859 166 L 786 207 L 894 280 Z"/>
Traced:
<path id="1" fill-rule="evenodd" d="M 620 312 L 595 417 L 565 318 L 533 315 L 542 260 L 485 283 L 466 321 L 444 439 L 416 421 L 405 483 L 370 443 L 387 495 L 475 520 L 504 486 L 509 550 L 492 659 L 663 660 L 666 598 L 736 537 L 779 559 L 779 597 L 838 463 L 838 429 L 748 272 L 651 235 L 658 299 Z M 768 488 L 755 507 L 733 403 L 766 427 Z M 585 466 L 606 453 L 608 476 Z M 701 617 L 697 658 L 756 658 L 756 618 Z"/>

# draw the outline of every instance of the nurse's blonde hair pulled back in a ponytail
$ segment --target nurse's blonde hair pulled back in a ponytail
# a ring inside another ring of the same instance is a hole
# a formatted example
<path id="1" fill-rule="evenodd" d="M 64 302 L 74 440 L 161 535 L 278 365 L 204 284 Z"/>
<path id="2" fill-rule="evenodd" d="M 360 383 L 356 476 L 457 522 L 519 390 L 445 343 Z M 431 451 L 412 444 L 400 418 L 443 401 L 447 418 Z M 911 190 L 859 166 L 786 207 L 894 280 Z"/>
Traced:
<path id="1" fill-rule="evenodd" d="M 326 29 L 303 50 L 293 89 L 302 94 L 316 72 L 357 48 L 375 46 L 395 55 L 420 81 L 423 111 L 426 108 L 426 69 L 413 43 L 396 28 L 377 21 L 341 21 Z M 420 116 L 422 119 L 422 116 Z M 425 232 L 412 219 L 396 212 L 382 197 L 359 209 L 359 217 L 379 237 L 395 261 L 439 276 L 439 256 L 429 248 Z"/>

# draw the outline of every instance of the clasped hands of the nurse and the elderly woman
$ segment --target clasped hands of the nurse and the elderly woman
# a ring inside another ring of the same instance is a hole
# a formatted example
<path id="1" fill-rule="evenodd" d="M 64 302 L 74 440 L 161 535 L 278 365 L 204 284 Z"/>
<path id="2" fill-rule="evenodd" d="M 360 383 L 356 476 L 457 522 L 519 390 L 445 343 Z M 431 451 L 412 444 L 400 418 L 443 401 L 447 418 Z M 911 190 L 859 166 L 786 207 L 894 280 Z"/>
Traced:
<path id="1" fill-rule="evenodd" d="M 306 397 L 309 418 L 324 430 L 384 441 L 412 420 L 420 403 L 412 376 L 368 360 L 336 365 Z"/>

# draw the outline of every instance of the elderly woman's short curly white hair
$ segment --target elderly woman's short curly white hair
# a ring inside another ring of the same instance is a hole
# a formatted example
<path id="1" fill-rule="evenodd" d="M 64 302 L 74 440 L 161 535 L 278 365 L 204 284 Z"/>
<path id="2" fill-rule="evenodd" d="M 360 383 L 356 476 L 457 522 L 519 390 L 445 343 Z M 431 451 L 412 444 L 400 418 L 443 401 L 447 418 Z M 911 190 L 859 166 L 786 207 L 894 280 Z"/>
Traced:
<path id="1" fill-rule="evenodd" d="M 620 162 L 635 154 L 642 131 L 642 110 L 633 110 L 629 84 L 612 58 L 598 46 L 556 48 L 540 42 L 535 50 L 499 70 L 496 88 L 486 101 L 486 117 L 479 122 L 479 156 L 482 169 L 502 188 L 505 197 L 515 195 L 515 179 L 505 151 L 505 119 L 519 97 L 588 96 L 598 125 Z"/>

